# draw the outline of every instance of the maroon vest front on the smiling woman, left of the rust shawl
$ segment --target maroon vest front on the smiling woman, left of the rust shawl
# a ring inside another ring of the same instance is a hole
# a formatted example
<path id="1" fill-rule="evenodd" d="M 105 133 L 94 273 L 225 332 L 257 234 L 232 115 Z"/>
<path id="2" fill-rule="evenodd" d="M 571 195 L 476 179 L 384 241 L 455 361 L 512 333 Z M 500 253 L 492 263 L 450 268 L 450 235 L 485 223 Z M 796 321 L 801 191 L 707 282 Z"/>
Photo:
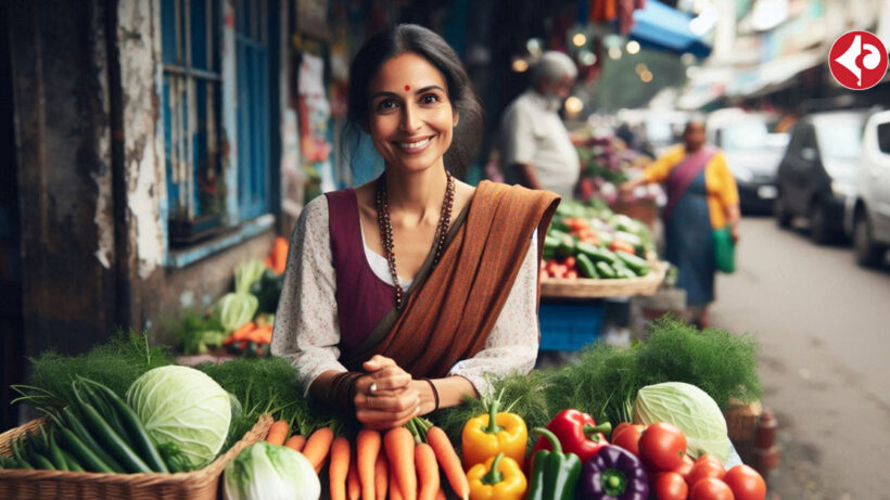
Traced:
<path id="1" fill-rule="evenodd" d="M 374 274 L 365 255 L 358 198 L 351 189 L 326 193 L 331 256 L 336 274 L 341 347 L 352 350 L 395 307 L 395 287 Z"/>

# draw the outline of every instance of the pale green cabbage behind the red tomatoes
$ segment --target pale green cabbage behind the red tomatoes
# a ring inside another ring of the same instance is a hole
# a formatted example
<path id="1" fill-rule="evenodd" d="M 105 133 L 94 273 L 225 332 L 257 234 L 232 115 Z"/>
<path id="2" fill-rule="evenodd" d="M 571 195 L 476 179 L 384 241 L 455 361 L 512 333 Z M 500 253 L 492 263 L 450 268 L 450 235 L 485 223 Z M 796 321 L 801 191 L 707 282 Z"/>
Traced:
<path id="1" fill-rule="evenodd" d="M 711 453 L 723 463 L 732 457 L 723 412 L 708 393 L 692 384 L 665 382 L 643 387 L 634 402 L 634 422 L 676 425 L 686 435 L 686 450 L 692 457 Z"/>

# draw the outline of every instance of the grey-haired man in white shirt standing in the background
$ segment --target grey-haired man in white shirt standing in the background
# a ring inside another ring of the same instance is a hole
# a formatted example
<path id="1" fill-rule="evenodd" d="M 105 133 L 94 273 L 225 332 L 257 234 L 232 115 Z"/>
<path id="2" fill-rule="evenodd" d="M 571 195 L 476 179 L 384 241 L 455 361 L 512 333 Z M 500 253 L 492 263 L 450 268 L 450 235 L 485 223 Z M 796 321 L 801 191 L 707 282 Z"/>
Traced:
<path id="1" fill-rule="evenodd" d="M 510 103 L 501 120 L 507 183 L 572 197 L 581 163 L 559 110 L 576 77 L 575 63 L 562 52 L 545 52 L 535 63 L 531 87 Z"/>

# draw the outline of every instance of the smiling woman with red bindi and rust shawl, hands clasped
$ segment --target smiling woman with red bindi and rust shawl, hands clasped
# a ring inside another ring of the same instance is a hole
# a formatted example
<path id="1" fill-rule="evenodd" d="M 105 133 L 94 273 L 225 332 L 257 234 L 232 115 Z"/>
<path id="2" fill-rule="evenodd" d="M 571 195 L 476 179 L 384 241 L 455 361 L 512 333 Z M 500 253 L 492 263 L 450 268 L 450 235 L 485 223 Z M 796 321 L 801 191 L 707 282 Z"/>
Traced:
<path id="1" fill-rule="evenodd" d="M 347 119 L 385 165 L 309 202 L 291 239 L 272 354 L 313 398 L 391 428 L 527 373 L 538 265 L 558 196 L 457 180 L 481 110 L 454 50 L 399 25 L 349 72 Z"/>

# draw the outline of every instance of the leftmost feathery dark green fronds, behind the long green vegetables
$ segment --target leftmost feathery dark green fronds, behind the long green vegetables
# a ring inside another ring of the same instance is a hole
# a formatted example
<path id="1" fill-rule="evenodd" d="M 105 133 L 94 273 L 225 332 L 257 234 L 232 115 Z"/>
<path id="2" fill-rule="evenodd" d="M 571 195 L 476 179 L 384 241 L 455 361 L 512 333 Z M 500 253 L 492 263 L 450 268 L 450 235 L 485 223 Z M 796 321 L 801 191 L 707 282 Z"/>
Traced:
<path id="1" fill-rule="evenodd" d="M 61 409 L 76 398 L 76 375 L 99 382 L 124 397 L 134 381 L 147 371 L 173 363 L 169 349 L 150 346 L 145 334 L 118 332 L 106 343 L 78 356 L 46 350 L 29 358 L 26 384 L 16 386 L 24 400 L 47 409 Z"/>

